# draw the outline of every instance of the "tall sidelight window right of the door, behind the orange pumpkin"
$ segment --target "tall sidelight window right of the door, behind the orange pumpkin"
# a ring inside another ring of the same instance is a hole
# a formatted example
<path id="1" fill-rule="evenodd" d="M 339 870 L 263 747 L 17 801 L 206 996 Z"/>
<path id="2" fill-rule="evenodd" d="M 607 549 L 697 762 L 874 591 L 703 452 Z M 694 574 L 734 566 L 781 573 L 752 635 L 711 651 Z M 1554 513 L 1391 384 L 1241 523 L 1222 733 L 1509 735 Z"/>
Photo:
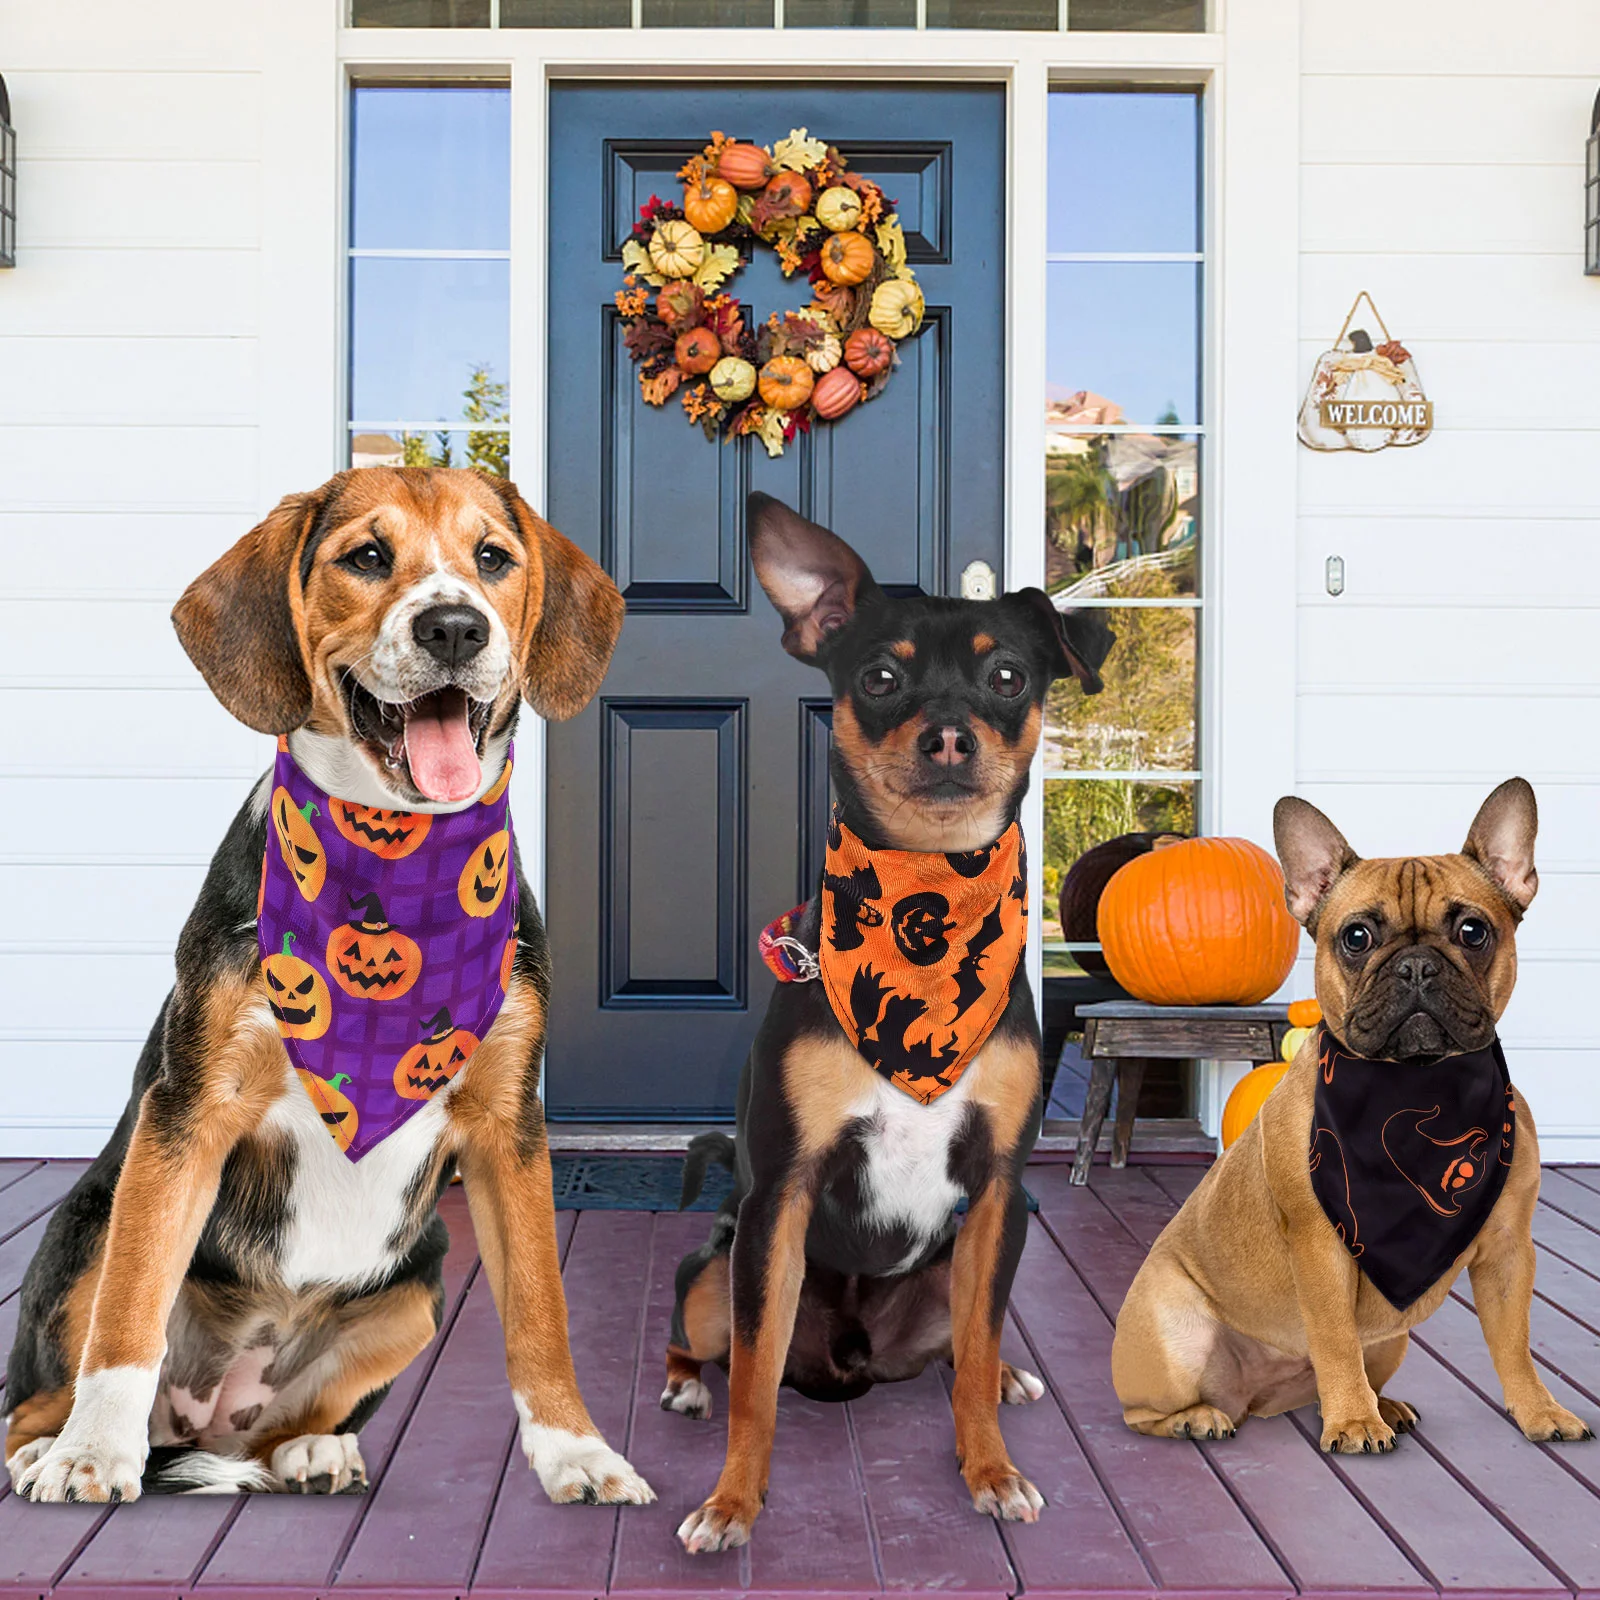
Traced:
<path id="1" fill-rule="evenodd" d="M 1200 96 L 1050 98 L 1045 582 L 1117 634 L 1104 693 L 1045 717 L 1045 971 L 1091 928 L 1062 878 L 1122 834 L 1195 832 L 1200 795 Z"/>

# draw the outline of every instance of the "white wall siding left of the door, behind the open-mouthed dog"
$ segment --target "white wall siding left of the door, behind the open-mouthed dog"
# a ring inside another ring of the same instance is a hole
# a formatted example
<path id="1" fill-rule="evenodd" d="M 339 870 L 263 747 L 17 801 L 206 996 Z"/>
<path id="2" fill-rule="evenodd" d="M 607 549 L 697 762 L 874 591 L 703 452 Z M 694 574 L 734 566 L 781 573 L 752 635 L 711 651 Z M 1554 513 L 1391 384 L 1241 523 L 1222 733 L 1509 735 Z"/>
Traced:
<path id="1" fill-rule="evenodd" d="M 19 258 L 0 274 L 0 1154 L 82 1154 L 128 1093 L 266 741 L 166 613 L 261 483 L 256 8 L 0 0 Z M 296 485 L 298 486 L 298 485 Z"/>

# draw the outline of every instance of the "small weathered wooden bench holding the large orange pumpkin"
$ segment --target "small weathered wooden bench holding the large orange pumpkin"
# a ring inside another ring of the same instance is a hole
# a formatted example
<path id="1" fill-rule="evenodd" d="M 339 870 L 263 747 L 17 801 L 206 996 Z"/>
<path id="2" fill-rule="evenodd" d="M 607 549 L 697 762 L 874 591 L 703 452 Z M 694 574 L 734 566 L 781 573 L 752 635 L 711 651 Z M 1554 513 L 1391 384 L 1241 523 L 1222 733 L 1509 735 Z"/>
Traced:
<path id="1" fill-rule="evenodd" d="M 1078 1006 L 1090 1086 L 1072 1155 L 1072 1182 L 1086 1184 L 1099 1144 L 1101 1123 L 1117 1083 L 1117 1122 L 1110 1165 L 1128 1165 L 1133 1118 L 1147 1061 L 1277 1061 L 1290 1030 L 1286 1005 L 1147 1005 L 1144 1000 L 1101 1000 Z"/>

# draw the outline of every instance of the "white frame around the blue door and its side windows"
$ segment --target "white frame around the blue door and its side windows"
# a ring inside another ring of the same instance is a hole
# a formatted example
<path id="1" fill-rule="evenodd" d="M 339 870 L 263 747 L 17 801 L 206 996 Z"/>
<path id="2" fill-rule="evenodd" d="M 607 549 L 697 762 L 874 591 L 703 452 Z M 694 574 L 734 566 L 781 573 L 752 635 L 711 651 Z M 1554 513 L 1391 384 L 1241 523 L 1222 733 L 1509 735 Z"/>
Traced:
<path id="1" fill-rule="evenodd" d="M 1216 8 L 1221 10 L 1221 5 Z M 546 490 L 549 86 L 557 78 L 982 80 L 1008 90 L 1006 574 L 1043 579 L 1046 96 L 1053 83 L 1189 83 L 1206 107 L 1206 318 L 1202 611 L 1202 818 L 1270 837 L 1294 787 L 1294 518 L 1299 299 L 1299 8 L 1227 0 L 1211 34 L 338 29 L 328 0 L 285 0 L 269 30 L 262 226 L 262 499 L 344 462 L 347 86 L 355 78 L 486 77 L 512 98 L 512 472 Z M 862 37 L 870 62 L 842 64 Z M 715 62 L 706 61 L 715 43 Z M 683 66 L 693 62 L 693 66 Z M 528 85 L 534 93 L 526 93 Z M 1226 349 L 1226 358 L 1224 358 Z M 1226 624 L 1226 626 L 1224 626 Z M 518 744 L 517 816 L 544 883 L 544 738 Z M 1024 826 L 1040 838 L 1040 766 Z M 1042 851 L 1034 850 L 1034 904 Z M 1029 973 L 1040 974 L 1038 920 Z M 1214 1130 L 1224 1075 L 1202 1080 Z"/>

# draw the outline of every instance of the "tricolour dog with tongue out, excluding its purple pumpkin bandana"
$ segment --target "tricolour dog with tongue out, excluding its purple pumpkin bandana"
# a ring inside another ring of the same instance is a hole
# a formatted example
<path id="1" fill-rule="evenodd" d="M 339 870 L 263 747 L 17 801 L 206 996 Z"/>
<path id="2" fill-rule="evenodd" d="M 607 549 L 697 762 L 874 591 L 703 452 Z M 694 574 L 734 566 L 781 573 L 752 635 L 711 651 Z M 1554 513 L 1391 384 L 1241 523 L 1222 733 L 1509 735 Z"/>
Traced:
<path id="1" fill-rule="evenodd" d="M 373 469 L 285 499 L 173 619 L 218 699 L 288 731 L 323 792 L 445 813 L 501 782 L 522 698 L 546 717 L 587 704 L 622 603 L 510 485 Z M 546 1491 L 653 1499 L 590 1422 L 566 1342 L 533 898 L 523 886 L 507 995 L 470 1062 L 350 1162 L 269 1014 L 267 789 L 216 851 L 122 1122 L 29 1269 L 6 1382 L 18 1491 L 358 1486 L 358 1430 L 438 1326 L 435 1200 L 459 1165 Z"/>

